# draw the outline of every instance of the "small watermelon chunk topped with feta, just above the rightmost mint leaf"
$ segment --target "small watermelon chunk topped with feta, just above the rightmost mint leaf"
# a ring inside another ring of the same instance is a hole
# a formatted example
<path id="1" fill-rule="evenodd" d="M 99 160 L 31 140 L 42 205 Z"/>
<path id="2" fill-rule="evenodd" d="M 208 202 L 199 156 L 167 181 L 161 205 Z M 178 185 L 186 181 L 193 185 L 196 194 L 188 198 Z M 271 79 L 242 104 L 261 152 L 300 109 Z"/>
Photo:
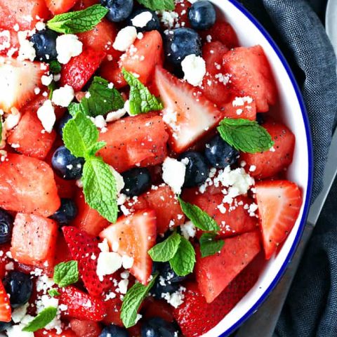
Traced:
<path id="1" fill-rule="evenodd" d="M 223 117 L 256 120 L 256 104 L 251 97 L 232 95 L 220 110 L 223 112 Z"/>

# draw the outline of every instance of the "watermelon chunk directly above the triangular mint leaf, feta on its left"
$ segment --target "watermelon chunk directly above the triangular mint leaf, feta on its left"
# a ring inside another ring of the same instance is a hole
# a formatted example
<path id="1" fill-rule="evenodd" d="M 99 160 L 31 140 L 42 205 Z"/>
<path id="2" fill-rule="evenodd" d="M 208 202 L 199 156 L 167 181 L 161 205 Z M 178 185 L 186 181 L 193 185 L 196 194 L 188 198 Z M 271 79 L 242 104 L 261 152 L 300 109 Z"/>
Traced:
<path id="1" fill-rule="evenodd" d="M 163 64 L 163 39 L 157 30 L 144 33 L 143 39 L 137 39 L 134 48 L 121 55 L 119 66 L 128 72 L 139 75 L 139 80 L 147 84 L 153 76 L 156 65 Z"/>

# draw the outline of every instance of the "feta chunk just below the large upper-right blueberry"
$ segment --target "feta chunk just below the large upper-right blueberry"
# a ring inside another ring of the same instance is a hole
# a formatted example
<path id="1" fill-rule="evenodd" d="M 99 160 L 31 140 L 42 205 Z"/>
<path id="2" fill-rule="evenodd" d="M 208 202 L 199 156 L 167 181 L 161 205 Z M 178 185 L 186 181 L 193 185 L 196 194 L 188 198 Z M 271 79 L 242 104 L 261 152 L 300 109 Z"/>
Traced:
<path id="1" fill-rule="evenodd" d="M 184 79 L 192 84 L 199 86 L 206 74 L 206 62 L 201 56 L 195 54 L 187 55 L 181 62 L 184 72 Z"/>

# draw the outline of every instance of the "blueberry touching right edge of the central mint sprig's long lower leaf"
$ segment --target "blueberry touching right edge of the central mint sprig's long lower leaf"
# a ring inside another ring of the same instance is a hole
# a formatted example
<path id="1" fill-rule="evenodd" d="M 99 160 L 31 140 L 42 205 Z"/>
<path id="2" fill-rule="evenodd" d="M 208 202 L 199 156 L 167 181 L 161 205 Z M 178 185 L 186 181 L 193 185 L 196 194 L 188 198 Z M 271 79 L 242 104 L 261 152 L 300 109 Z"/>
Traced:
<path id="1" fill-rule="evenodd" d="M 151 186 L 150 172 L 146 168 L 131 169 L 121 173 L 121 176 L 123 176 L 125 183 L 121 192 L 126 194 L 128 197 L 140 195 Z"/>

